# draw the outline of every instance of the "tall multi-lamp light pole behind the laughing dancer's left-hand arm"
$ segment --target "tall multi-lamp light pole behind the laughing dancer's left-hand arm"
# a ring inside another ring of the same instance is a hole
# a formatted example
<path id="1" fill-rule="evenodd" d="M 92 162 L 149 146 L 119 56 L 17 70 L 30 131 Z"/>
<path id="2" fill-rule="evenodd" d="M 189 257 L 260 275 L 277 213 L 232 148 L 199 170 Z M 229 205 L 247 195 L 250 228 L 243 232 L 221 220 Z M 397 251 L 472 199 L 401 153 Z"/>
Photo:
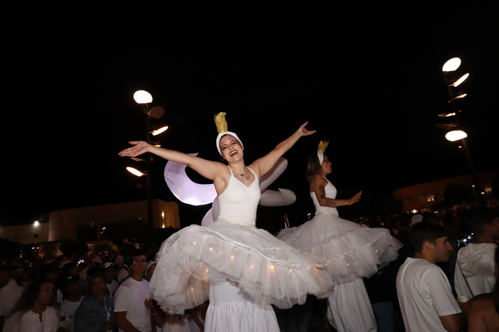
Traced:
<path id="1" fill-rule="evenodd" d="M 149 104 L 152 103 L 153 97 L 151 96 L 150 93 L 144 90 L 139 90 L 136 91 L 133 95 L 133 99 L 137 104 L 143 104 L 144 109 L 143 112 L 146 115 L 146 134 L 147 134 L 147 143 L 151 144 L 153 143 L 156 146 L 159 146 L 158 142 L 151 142 L 151 137 L 150 134 L 153 136 L 156 136 L 157 134 L 162 133 L 166 129 L 168 129 L 168 126 L 151 130 L 152 128 L 149 126 L 149 118 L 154 117 L 156 119 L 160 118 L 163 116 L 165 113 L 165 109 L 163 109 L 160 106 L 153 107 L 151 110 L 149 110 Z M 153 201 L 152 201 L 152 193 L 151 193 L 151 184 L 152 184 L 152 162 L 154 156 L 153 154 L 147 152 L 146 153 L 146 162 L 147 162 L 147 171 L 145 173 L 142 173 L 140 171 L 137 171 L 136 169 L 132 167 L 127 167 L 127 170 L 137 176 L 142 176 L 142 175 L 147 175 L 147 228 L 148 228 L 148 233 L 150 238 L 152 239 L 154 236 L 154 220 L 153 220 Z M 136 159 L 137 160 L 137 159 Z"/>

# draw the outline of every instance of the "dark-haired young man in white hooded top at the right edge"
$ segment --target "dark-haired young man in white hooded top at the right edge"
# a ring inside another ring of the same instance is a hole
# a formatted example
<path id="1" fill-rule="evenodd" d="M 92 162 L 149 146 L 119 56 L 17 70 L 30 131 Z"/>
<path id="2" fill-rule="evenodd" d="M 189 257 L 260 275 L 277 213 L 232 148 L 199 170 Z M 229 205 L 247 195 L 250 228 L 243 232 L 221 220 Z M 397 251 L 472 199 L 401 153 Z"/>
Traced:
<path id="1" fill-rule="evenodd" d="M 460 214 L 461 225 L 468 229 L 475 243 L 459 249 L 454 271 L 458 296 L 491 293 L 496 284 L 494 253 L 499 240 L 497 213 L 488 207 L 473 207 Z"/>

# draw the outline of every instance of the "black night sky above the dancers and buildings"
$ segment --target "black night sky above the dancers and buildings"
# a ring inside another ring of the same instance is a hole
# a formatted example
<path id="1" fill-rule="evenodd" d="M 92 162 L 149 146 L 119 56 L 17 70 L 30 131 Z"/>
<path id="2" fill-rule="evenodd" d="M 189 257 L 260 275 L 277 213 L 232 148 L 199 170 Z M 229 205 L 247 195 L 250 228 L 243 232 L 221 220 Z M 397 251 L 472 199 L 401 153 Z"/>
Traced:
<path id="1" fill-rule="evenodd" d="M 451 111 L 442 65 L 460 57 L 456 75 L 470 72 L 459 106 L 475 166 L 497 169 L 499 4 L 445 4 L 457 5 L 5 6 L 0 225 L 145 199 L 125 170 L 134 162 L 117 156 L 145 139 L 136 90 L 166 109 L 163 147 L 207 159 L 218 160 L 220 111 L 247 163 L 308 120 L 317 133 L 285 155 L 288 169 L 270 188 L 296 193 L 286 210 L 295 217 L 311 204 L 303 170 L 320 139 L 330 141 L 338 198 L 362 190 L 358 208 L 469 173 L 435 125 Z M 153 196 L 175 200 L 165 163 L 155 161 Z M 207 210 L 181 204 L 182 224 Z"/>

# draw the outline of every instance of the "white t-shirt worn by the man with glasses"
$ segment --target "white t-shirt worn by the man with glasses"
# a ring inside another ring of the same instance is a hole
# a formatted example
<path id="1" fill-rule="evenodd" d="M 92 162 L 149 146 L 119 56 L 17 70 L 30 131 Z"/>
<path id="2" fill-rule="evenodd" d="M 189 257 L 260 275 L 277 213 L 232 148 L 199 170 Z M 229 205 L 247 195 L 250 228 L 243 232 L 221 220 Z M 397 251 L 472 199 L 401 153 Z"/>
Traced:
<path id="1" fill-rule="evenodd" d="M 126 311 L 126 319 L 138 330 L 151 332 L 151 310 L 144 305 L 149 282 L 136 281 L 132 277 L 125 280 L 114 295 L 114 312 Z M 120 332 L 123 330 L 119 329 Z"/>

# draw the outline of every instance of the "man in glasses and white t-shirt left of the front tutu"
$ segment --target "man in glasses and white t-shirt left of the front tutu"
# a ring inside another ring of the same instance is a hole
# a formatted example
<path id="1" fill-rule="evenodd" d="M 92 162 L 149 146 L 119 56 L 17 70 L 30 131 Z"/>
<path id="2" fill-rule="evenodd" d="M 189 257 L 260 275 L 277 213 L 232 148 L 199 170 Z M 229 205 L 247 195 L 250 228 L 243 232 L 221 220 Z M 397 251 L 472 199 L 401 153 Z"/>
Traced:
<path id="1" fill-rule="evenodd" d="M 148 260 L 143 253 L 135 252 L 131 256 L 130 278 L 118 287 L 114 295 L 114 313 L 120 332 L 152 331 L 151 309 L 145 305 L 148 301 L 149 282 L 143 279 L 147 263 Z M 154 313 L 156 313 L 155 309 Z"/>

